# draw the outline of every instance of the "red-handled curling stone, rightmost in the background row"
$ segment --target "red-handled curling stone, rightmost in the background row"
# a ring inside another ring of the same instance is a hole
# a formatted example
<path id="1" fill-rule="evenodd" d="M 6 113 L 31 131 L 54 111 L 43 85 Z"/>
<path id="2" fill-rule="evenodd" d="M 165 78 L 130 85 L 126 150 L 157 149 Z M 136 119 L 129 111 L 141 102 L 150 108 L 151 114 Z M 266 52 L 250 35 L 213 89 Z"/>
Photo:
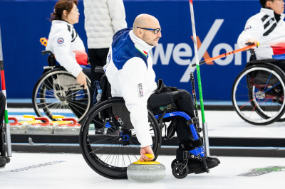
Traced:
<path id="1" fill-rule="evenodd" d="M 81 124 L 78 124 L 74 118 L 63 118 L 63 121 L 73 121 L 72 124 L 60 124 L 54 129 L 54 134 L 63 135 L 78 135 L 81 129 Z"/>

